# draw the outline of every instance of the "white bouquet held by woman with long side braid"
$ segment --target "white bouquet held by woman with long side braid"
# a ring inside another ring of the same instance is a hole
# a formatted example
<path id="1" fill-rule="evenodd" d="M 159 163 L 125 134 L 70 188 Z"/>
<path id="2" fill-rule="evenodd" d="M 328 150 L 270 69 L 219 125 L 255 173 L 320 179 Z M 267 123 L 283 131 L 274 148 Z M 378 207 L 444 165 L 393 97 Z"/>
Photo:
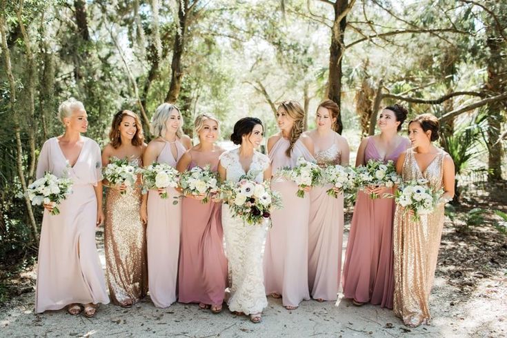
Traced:
<path id="1" fill-rule="evenodd" d="M 294 181 L 299 186 L 299 190 L 296 192 L 297 197 L 303 198 L 305 195 L 304 188 L 317 186 L 320 183 L 322 169 L 316 163 L 299 157 L 297 159 L 297 166 L 294 168 L 281 168 L 278 174 L 290 181 Z"/>

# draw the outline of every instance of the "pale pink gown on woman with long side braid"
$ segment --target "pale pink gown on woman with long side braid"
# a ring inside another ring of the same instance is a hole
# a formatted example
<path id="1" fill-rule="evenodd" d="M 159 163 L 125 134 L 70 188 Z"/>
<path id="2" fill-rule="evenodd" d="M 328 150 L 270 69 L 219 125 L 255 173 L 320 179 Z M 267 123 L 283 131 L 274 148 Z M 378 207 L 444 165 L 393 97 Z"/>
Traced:
<path id="1" fill-rule="evenodd" d="M 315 161 L 301 140 L 297 140 L 290 157 L 285 151 L 290 141 L 281 137 L 269 153 L 272 172 L 271 188 L 279 192 L 283 208 L 271 213 L 272 228 L 264 251 L 264 284 L 266 294 L 277 293 L 284 306 L 299 306 L 310 299 L 308 290 L 308 217 L 310 197 L 296 196 L 297 184 L 276 177 L 281 167 L 294 168 L 297 159 Z"/>

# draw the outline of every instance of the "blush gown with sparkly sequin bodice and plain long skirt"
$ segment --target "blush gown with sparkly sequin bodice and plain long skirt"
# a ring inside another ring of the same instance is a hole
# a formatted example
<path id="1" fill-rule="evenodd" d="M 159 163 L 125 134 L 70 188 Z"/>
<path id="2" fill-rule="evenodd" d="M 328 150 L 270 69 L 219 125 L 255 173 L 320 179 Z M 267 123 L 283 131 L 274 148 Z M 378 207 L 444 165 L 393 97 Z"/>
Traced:
<path id="1" fill-rule="evenodd" d="M 336 143 L 315 153 L 321 167 L 339 164 L 341 152 Z M 337 198 L 326 191 L 331 184 L 310 190 L 308 225 L 308 286 L 313 299 L 326 301 L 338 297 L 341 272 L 341 246 L 344 238 L 344 194 Z"/>

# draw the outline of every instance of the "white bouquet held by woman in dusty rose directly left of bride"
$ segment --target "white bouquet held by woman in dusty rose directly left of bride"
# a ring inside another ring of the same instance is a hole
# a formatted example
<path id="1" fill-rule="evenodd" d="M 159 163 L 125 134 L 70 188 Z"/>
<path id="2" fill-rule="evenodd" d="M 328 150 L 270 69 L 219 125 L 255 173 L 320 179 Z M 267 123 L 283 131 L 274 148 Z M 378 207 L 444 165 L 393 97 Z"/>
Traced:
<path id="1" fill-rule="evenodd" d="M 179 186 L 185 195 L 206 195 L 202 203 L 208 203 L 210 195 L 218 192 L 217 173 L 212 172 L 210 166 L 196 166 L 181 174 Z"/>

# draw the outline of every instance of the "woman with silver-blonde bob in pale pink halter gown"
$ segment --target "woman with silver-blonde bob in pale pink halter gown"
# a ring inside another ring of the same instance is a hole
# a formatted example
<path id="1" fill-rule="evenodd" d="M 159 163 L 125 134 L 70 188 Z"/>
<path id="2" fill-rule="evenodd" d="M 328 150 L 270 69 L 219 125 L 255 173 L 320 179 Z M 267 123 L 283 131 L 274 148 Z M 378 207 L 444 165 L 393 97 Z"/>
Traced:
<path id="1" fill-rule="evenodd" d="M 144 152 L 143 164 L 167 163 L 175 167 L 184 152 L 192 146 L 190 137 L 183 135 L 181 112 L 170 103 L 162 103 L 152 117 L 150 132 L 155 137 Z M 166 190 L 167 189 L 167 190 Z M 147 224 L 148 285 L 150 299 L 157 308 L 167 308 L 177 298 L 181 203 L 175 188 L 150 190 L 143 196 L 141 220 Z M 168 198 L 160 194 L 168 192 Z"/>

